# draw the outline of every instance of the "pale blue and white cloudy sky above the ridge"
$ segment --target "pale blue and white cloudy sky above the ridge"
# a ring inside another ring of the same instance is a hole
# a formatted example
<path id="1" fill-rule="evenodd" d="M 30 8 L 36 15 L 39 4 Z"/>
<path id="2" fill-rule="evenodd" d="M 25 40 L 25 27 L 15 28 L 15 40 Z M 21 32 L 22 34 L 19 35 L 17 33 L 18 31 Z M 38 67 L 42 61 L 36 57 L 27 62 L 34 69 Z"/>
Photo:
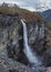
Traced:
<path id="1" fill-rule="evenodd" d="M 51 9 L 51 0 L 0 0 L 1 2 L 17 3 L 19 7 L 31 11 Z"/>

